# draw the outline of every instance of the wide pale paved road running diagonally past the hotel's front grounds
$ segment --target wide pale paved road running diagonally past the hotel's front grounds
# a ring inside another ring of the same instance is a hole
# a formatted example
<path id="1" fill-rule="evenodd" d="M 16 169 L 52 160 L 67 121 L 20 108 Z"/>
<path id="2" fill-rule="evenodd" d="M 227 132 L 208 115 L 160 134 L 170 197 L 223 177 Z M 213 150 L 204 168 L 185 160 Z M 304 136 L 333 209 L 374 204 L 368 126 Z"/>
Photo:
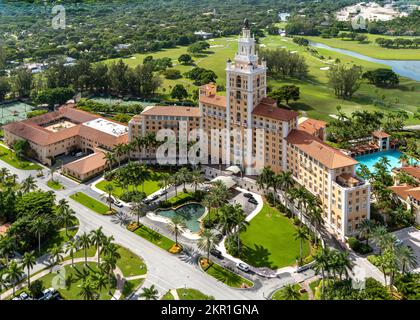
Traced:
<path id="1" fill-rule="evenodd" d="M 18 170 L 7 164 L 2 163 L 2 166 L 7 167 L 12 173 L 16 173 L 19 176 L 19 180 L 25 179 L 29 175 L 36 175 L 33 171 Z M 44 170 L 44 172 L 47 173 L 48 171 Z M 48 174 L 43 178 L 37 178 L 37 185 L 41 190 L 51 190 L 46 185 L 49 178 L 50 176 Z M 69 198 L 71 194 L 77 191 L 83 191 L 95 196 L 95 198 L 100 198 L 89 186 L 79 185 L 58 174 L 56 174 L 55 179 L 59 180 L 66 188 L 62 191 L 56 191 L 57 201 L 63 198 L 68 200 L 70 207 L 76 212 L 76 216 L 80 221 L 79 234 L 102 227 L 104 234 L 107 236 L 112 235 L 116 243 L 130 249 L 145 260 L 148 267 L 148 276 L 145 285 L 155 284 L 161 294 L 164 294 L 170 289 L 187 286 L 212 295 L 218 300 L 258 300 L 264 299 L 275 289 L 296 281 L 296 275 L 292 274 L 283 274 L 275 279 L 258 279 L 257 277 L 252 277 L 254 280 L 257 279 L 253 289 L 241 290 L 230 288 L 204 274 L 196 264 L 183 261 L 181 259 L 182 256 L 172 255 L 134 233 L 129 232 L 125 227 L 118 225 L 113 217 L 98 215 Z M 45 265 L 37 265 L 34 270 L 39 270 L 42 267 L 45 267 Z M 303 276 L 299 275 L 299 277 Z M 137 296 L 134 298 L 137 298 Z"/>

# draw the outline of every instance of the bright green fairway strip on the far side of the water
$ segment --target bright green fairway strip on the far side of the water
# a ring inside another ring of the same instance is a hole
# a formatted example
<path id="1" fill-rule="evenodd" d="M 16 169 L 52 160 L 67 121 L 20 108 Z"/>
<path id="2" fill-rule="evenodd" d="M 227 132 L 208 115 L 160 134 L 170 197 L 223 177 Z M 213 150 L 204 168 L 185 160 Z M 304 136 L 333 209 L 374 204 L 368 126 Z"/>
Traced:
<path id="1" fill-rule="evenodd" d="M 395 39 L 398 37 L 366 34 L 369 43 L 359 43 L 358 41 L 351 41 L 349 39 L 342 40 L 341 38 L 322 38 L 322 37 L 305 37 L 313 42 L 324 43 L 330 47 L 351 50 L 360 54 L 383 60 L 420 60 L 419 49 L 390 49 L 382 48 L 375 43 L 377 38 Z M 414 37 L 401 36 L 404 39 L 413 39 Z"/>

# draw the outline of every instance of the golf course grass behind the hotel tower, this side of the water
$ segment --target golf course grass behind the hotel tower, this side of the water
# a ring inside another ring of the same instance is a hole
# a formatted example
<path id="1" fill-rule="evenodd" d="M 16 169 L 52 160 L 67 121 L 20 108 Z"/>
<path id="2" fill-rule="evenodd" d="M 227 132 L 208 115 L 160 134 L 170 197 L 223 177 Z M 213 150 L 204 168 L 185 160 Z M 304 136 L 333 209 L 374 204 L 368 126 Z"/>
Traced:
<path id="1" fill-rule="evenodd" d="M 338 42 L 341 41 L 340 39 L 333 40 Z M 217 83 L 220 85 L 225 85 L 226 60 L 228 58 L 232 59 L 234 57 L 237 50 L 237 38 L 218 38 L 214 39 L 214 41 L 210 41 L 209 43 L 212 46 L 210 50 L 213 53 L 195 58 L 195 63 L 199 67 L 213 70 L 218 76 Z M 272 86 L 273 88 L 286 84 L 295 84 L 300 87 L 301 99 L 297 102 L 290 103 L 290 106 L 293 109 L 298 110 L 309 117 L 325 121 L 331 121 L 332 118 L 330 115 L 336 114 L 336 107 L 338 105 L 341 106 L 342 111 L 346 114 L 350 114 L 356 110 L 389 111 L 401 109 L 407 111 L 410 115 L 410 119 L 407 121 L 407 124 L 419 123 L 419 120 L 414 119 L 412 115 L 417 110 L 418 106 L 420 82 L 407 78 L 400 78 L 400 85 L 394 89 L 377 88 L 364 82 L 351 101 L 342 100 L 334 96 L 333 90 L 328 85 L 327 71 L 321 70 L 321 68 L 330 66 L 331 63 L 337 58 L 344 63 L 354 63 L 361 65 L 364 71 L 386 66 L 359 60 L 351 56 L 336 53 L 326 49 L 316 48 L 316 50 L 325 57 L 325 59 L 320 59 L 316 56 L 312 56 L 305 47 L 293 43 L 292 39 L 280 37 L 277 35 L 270 35 L 265 38 L 261 38 L 260 43 L 266 48 L 286 48 L 288 50 L 297 51 L 299 54 L 305 57 L 306 63 L 309 67 L 309 79 L 300 81 L 292 79 L 268 78 L 268 85 Z M 356 42 L 353 44 L 355 43 Z M 369 48 L 369 45 L 361 46 L 366 46 Z M 186 49 L 186 47 L 178 47 L 174 49 L 162 50 L 152 54 L 136 54 L 134 55 L 134 59 L 127 58 L 124 59 L 124 62 L 130 66 L 136 66 L 142 63 L 143 59 L 148 55 L 152 55 L 155 58 L 169 57 L 173 59 L 174 69 L 179 69 L 184 73 L 193 68 L 193 66 L 181 66 L 177 62 L 179 55 L 186 53 Z M 374 49 L 376 50 L 372 51 L 375 51 L 376 54 L 381 54 L 381 52 L 385 50 L 382 48 L 377 49 L 375 47 Z M 398 59 L 398 57 L 404 57 L 404 59 L 406 59 L 405 53 L 402 55 L 403 52 L 406 51 L 401 51 L 405 49 L 389 50 L 391 50 L 389 53 L 387 53 L 389 57 L 394 59 Z M 390 55 L 392 53 L 394 53 L 394 55 Z M 420 49 L 416 50 L 414 54 L 418 56 L 420 54 Z M 171 88 L 178 83 L 184 84 L 190 93 L 192 93 L 194 90 L 197 90 L 197 87 L 194 86 L 190 80 L 182 78 L 178 80 L 164 79 L 163 86 L 159 89 L 159 92 L 163 94 L 165 98 L 170 99 L 170 97 L 168 97 L 168 92 L 170 92 Z M 383 99 L 384 97 L 385 99 Z"/>

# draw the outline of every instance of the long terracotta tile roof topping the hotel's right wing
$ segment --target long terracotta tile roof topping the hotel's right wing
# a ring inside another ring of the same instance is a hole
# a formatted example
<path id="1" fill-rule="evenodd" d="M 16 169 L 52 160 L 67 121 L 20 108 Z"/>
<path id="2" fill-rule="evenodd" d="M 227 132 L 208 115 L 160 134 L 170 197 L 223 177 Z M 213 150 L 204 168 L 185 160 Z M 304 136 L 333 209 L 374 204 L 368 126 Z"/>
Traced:
<path id="1" fill-rule="evenodd" d="M 286 141 L 318 160 L 329 169 L 352 166 L 358 163 L 340 150 L 327 145 L 321 139 L 302 130 L 292 130 Z"/>

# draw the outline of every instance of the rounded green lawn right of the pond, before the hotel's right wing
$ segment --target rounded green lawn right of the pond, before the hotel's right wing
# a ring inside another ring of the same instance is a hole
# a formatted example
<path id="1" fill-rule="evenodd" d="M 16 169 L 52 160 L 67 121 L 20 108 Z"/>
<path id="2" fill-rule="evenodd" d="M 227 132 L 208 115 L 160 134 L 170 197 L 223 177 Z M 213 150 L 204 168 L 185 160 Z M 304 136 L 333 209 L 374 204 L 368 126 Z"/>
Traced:
<path id="1" fill-rule="evenodd" d="M 300 241 L 294 239 L 296 227 L 277 209 L 265 204 L 241 233 L 242 259 L 254 267 L 279 269 L 296 263 Z M 303 255 L 309 255 L 309 242 L 303 244 Z"/>

